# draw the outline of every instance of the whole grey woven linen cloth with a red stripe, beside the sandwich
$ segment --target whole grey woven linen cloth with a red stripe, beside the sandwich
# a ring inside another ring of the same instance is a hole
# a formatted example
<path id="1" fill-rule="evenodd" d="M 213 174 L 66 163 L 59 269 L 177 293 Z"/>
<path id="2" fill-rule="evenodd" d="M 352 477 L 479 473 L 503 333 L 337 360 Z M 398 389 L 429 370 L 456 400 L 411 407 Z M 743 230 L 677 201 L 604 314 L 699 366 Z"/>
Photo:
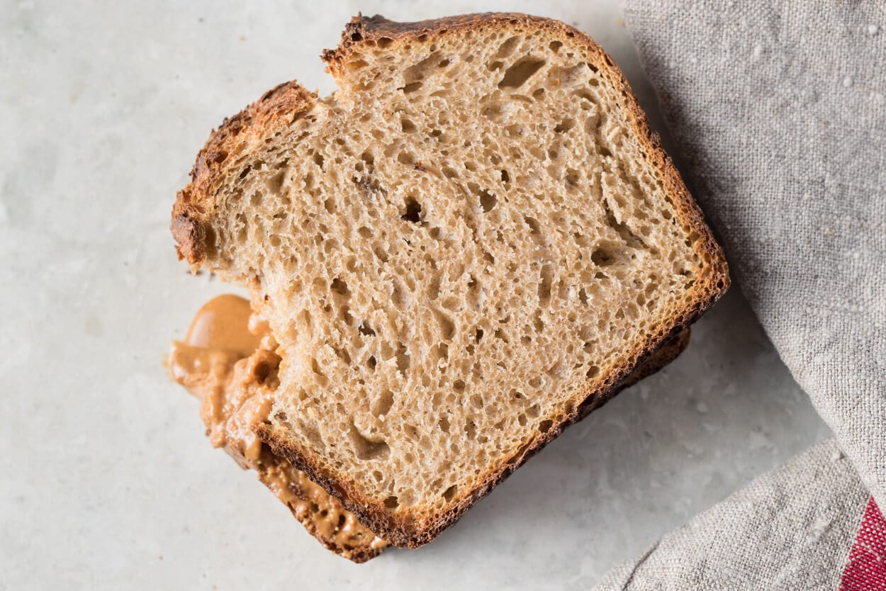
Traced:
<path id="1" fill-rule="evenodd" d="M 886 557 L 866 558 L 886 508 L 886 3 L 625 9 L 690 190 L 836 442 L 665 536 L 600 588 L 886 588 L 858 578 Z M 838 449 L 854 470 L 831 459 Z"/>

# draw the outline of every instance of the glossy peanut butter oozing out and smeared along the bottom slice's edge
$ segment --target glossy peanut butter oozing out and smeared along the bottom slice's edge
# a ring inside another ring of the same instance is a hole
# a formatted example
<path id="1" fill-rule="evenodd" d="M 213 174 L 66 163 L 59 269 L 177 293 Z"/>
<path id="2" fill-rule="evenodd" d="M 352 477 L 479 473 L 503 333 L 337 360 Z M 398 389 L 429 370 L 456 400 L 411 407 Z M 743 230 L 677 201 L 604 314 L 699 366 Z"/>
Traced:
<path id="1" fill-rule="evenodd" d="M 173 343 L 168 369 L 201 400 L 213 447 L 224 447 L 243 468 L 258 471 L 260 481 L 324 546 L 346 558 L 375 556 L 387 542 L 253 433 L 252 425 L 268 416 L 278 385 L 275 350 L 268 324 L 249 301 L 222 295 L 198 310 L 184 341 Z"/>

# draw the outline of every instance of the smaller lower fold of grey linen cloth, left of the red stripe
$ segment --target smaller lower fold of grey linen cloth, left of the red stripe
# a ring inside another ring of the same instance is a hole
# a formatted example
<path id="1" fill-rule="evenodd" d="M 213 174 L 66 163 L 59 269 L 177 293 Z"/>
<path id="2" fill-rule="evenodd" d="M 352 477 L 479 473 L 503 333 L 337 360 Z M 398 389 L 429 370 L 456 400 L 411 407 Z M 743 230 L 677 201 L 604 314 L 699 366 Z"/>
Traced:
<path id="1" fill-rule="evenodd" d="M 828 439 L 667 534 L 596 588 L 833 590 L 867 499 Z"/>

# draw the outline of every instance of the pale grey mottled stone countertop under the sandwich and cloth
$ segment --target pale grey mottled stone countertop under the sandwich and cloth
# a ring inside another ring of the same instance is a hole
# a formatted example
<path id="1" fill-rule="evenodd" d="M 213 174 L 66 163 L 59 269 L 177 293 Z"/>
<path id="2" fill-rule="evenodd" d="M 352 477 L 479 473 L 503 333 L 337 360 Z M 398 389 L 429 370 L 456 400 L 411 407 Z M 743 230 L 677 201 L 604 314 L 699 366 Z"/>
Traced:
<path id="1" fill-rule="evenodd" d="M 247 5 L 248 4 L 248 5 Z M 733 289 L 688 351 L 563 434 L 431 545 L 355 565 L 212 450 L 161 366 L 210 296 L 168 232 L 210 128 L 358 11 L 432 3 L 11 2 L 0 20 L 0 589 L 587 588 L 828 435 Z M 587 31 L 655 97 L 616 0 L 450 0 Z"/>

